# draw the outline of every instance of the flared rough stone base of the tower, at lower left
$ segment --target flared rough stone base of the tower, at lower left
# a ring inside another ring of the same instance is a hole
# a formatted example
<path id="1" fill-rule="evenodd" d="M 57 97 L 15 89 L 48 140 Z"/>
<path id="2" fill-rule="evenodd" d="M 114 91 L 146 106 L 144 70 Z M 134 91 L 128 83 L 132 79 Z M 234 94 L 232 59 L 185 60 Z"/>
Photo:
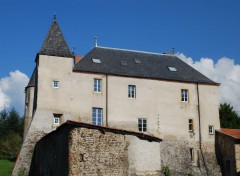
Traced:
<path id="1" fill-rule="evenodd" d="M 37 141 L 40 140 L 44 135 L 45 133 L 43 131 L 35 131 L 32 133 L 28 133 L 23 142 L 18 159 L 15 163 L 15 167 L 12 173 L 13 176 L 25 176 L 28 174 L 34 146 Z"/>

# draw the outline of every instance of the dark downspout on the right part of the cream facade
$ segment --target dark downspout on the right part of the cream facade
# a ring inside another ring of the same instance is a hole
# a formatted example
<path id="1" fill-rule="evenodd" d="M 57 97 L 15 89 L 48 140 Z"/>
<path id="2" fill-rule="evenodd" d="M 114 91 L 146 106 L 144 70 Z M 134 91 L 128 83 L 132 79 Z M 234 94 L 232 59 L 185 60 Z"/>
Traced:
<path id="1" fill-rule="evenodd" d="M 198 82 L 197 82 L 197 98 L 198 98 L 198 125 L 199 125 L 199 149 L 200 149 L 200 153 L 203 159 L 203 164 L 206 170 L 206 174 L 207 176 L 208 174 L 208 168 L 207 168 L 207 164 L 205 162 L 205 158 L 203 155 L 203 151 L 202 151 L 202 133 L 201 133 L 201 112 L 200 112 L 200 101 L 199 101 L 199 89 L 198 89 Z"/>

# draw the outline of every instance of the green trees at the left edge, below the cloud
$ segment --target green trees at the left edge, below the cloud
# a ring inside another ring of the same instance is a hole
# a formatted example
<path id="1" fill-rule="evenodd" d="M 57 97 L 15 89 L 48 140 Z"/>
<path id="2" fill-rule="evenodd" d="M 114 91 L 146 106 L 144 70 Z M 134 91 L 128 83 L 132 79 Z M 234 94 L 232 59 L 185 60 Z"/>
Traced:
<path id="1" fill-rule="evenodd" d="M 0 159 L 14 160 L 21 147 L 23 119 L 12 108 L 0 112 Z"/>

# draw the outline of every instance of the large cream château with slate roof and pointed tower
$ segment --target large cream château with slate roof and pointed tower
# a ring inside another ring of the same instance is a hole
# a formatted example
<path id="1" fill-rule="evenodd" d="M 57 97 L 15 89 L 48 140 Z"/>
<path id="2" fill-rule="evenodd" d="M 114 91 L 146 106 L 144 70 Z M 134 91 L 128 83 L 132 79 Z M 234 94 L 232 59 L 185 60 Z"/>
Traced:
<path id="1" fill-rule="evenodd" d="M 74 58 L 54 18 L 26 87 L 24 143 L 13 174 L 28 171 L 35 143 L 67 120 L 163 139 L 159 170 L 220 174 L 219 83 L 174 54 L 95 46 Z"/>

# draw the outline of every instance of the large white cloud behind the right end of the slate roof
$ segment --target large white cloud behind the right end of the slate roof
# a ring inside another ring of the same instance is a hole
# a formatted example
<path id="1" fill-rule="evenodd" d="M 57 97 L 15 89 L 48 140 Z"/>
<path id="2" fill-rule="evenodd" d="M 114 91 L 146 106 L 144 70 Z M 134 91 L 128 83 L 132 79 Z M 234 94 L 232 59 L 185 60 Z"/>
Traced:
<path id="1" fill-rule="evenodd" d="M 240 65 L 233 59 L 222 57 L 216 63 L 211 58 L 193 61 L 182 53 L 177 56 L 184 62 L 220 85 L 221 103 L 230 103 L 240 114 Z"/>

